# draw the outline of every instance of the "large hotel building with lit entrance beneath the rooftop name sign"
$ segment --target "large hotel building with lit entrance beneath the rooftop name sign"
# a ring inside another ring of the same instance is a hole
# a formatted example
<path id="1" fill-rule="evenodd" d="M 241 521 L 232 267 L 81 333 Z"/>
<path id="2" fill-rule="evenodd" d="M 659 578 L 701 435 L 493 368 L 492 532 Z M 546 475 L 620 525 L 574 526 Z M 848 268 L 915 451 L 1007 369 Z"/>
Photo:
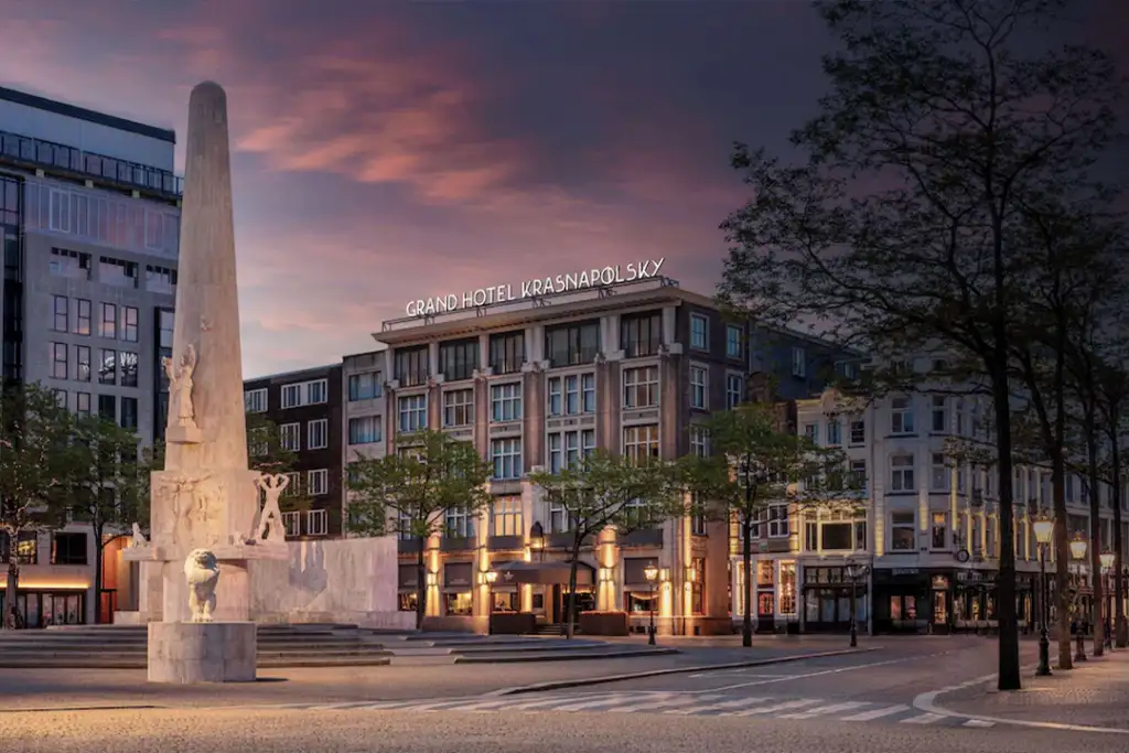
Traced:
<path id="1" fill-rule="evenodd" d="M 400 541 L 401 608 L 414 610 L 423 548 L 429 625 L 474 631 L 491 610 L 533 612 L 549 629 L 562 620 L 569 522 L 531 471 L 597 447 L 666 459 L 706 452 L 699 424 L 711 411 L 744 402 L 769 374 L 781 392 L 817 392 L 830 362 L 823 343 L 727 322 L 712 299 L 664 278 L 402 318 L 374 336 L 387 350 L 345 359 L 347 457 L 397 452 L 405 435 L 441 428 L 493 463 L 485 515 L 453 513 L 446 535 Z M 623 610 L 641 630 L 656 603 L 660 632 L 730 632 L 728 533 L 689 518 L 605 531 L 580 558 L 579 611 Z M 644 577 L 650 563 L 657 594 Z M 508 577 L 490 587 L 490 570 Z"/>

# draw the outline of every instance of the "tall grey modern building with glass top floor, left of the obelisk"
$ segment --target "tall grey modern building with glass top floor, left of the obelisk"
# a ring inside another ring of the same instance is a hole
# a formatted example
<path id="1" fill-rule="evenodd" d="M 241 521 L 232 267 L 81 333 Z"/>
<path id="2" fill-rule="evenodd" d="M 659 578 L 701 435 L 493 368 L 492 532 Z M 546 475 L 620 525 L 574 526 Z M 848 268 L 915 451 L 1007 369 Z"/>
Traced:
<path id="1" fill-rule="evenodd" d="M 169 130 L 0 88 L 3 378 L 41 383 L 72 411 L 96 412 L 146 443 L 167 412 L 160 358 L 172 349 L 176 290 L 175 142 Z M 95 546 L 78 524 L 21 537 L 17 598 L 27 627 L 93 622 L 96 611 L 108 621 L 131 598 L 116 593 L 128 578 L 113 569 L 94 594 Z M 0 541 L 0 561 L 7 554 Z"/>

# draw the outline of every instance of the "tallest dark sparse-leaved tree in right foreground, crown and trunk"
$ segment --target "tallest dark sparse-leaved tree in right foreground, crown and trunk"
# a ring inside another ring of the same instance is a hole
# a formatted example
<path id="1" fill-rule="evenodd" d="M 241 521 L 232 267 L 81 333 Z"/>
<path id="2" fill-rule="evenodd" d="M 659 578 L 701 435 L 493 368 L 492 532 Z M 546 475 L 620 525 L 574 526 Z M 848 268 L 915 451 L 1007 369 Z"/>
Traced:
<path id="1" fill-rule="evenodd" d="M 1111 143 L 1120 81 L 1079 46 L 1036 50 L 1065 0 L 820 0 L 841 49 L 781 166 L 738 146 L 754 198 L 723 226 L 721 298 L 870 352 L 975 360 L 995 412 L 1000 690 L 1019 688 L 1010 447 L 1012 342 L 1030 257 L 1022 203 L 1073 196 Z"/>

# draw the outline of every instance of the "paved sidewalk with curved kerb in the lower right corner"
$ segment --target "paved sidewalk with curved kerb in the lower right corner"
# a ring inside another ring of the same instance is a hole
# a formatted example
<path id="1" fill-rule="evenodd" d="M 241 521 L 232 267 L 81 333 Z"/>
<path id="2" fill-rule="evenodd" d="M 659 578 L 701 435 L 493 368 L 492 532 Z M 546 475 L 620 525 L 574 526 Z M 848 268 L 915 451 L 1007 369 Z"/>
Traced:
<path id="1" fill-rule="evenodd" d="M 1025 668 L 1021 691 L 1001 693 L 995 681 L 978 683 L 939 694 L 936 704 L 971 717 L 1129 730 L 1129 650 L 1106 649 L 1075 666 L 1053 669 L 1050 677 Z"/>

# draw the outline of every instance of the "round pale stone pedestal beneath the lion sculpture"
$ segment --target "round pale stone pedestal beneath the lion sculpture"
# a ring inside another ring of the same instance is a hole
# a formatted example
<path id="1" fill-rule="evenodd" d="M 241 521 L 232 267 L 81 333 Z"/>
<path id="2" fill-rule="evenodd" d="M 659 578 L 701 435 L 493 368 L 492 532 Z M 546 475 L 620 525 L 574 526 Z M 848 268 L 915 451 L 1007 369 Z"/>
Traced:
<path id="1" fill-rule="evenodd" d="M 254 622 L 150 622 L 149 682 L 254 682 Z"/>

